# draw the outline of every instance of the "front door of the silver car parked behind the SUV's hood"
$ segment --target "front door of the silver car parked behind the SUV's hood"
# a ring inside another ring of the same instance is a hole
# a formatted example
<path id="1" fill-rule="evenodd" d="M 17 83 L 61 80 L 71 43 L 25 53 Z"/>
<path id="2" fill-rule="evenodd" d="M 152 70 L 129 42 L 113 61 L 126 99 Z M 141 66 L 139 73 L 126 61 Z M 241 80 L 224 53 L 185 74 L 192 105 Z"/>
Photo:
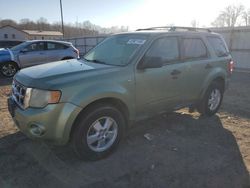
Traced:
<path id="1" fill-rule="evenodd" d="M 44 42 L 34 42 L 25 47 L 18 56 L 22 67 L 45 63 L 47 61 L 47 55 L 44 50 Z"/>

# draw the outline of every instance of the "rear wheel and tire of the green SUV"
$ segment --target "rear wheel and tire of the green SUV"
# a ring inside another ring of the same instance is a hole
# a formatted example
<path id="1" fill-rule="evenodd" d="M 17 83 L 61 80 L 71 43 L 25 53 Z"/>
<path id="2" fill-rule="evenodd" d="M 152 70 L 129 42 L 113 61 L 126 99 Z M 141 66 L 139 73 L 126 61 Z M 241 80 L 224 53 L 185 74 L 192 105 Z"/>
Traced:
<path id="1" fill-rule="evenodd" d="M 208 117 L 214 115 L 220 108 L 223 94 L 223 86 L 218 82 L 212 83 L 197 107 L 198 112 Z"/>

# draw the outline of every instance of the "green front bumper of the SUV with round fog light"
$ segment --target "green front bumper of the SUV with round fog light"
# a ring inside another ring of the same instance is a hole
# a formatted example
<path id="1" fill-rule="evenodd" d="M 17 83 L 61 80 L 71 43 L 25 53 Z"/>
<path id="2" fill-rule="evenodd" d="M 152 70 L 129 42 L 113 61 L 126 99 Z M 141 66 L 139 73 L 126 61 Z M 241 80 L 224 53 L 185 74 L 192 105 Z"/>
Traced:
<path id="1" fill-rule="evenodd" d="M 71 103 L 23 110 L 11 97 L 8 98 L 8 109 L 16 126 L 29 138 L 46 140 L 57 145 L 69 141 L 71 127 L 82 110 Z"/>

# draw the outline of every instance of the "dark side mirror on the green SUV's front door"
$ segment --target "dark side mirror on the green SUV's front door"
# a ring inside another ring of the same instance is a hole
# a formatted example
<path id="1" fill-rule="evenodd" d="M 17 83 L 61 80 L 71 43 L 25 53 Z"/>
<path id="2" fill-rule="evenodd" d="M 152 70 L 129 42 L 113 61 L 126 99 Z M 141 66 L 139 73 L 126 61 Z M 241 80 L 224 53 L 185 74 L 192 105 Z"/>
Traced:
<path id="1" fill-rule="evenodd" d="M 138 69 L 160 68 L 163 61 L 160 57 L 143 57 L 138 65 Z"/>

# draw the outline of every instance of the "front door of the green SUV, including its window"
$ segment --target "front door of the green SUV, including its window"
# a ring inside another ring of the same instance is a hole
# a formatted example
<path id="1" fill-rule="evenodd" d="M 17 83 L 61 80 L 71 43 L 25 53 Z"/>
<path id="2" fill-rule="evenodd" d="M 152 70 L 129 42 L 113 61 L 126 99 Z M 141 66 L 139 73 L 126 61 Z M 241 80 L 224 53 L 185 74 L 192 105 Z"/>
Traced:
<path id="1" fill-rule="evenodd" d="M 171 109 L 179 101 L 181 75 L 178 37 L 161 37 L 156 39 L 144 57 L 148 61 L 163 62 L 160 68 L 136 70 L 136 107 L 137 117 Z M 141 62 L 140 62 L 141 63 Z M 150 62 L 154 63 L 154 62 Z"/>

